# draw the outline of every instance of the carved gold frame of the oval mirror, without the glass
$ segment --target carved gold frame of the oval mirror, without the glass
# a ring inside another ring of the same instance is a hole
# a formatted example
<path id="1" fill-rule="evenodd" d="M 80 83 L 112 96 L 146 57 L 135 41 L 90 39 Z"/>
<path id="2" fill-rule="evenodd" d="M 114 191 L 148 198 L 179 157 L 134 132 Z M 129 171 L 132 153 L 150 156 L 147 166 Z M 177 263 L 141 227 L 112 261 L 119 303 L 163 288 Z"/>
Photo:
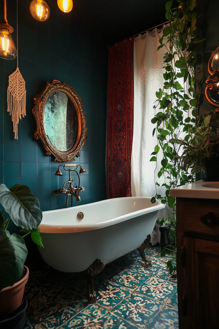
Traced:
<path id="1" fill-rule="evenodd" d="M 72 145 L 72 147 L 68 151 L 59 151 L 55 148 L 54 145 L 49 141 L 45 126 L 44 126 L 44 110 L 46 102 L 54 91 L 62 91 L 67 94 L 67 96 L 71 99 L 72 103 L 75 106 L 75 110 L 77 112 L 77 120 L 78 120 L 78 131 L 77 138 Z M 75 156 L 80 156 L 80 148 L 85 143 L 87 136 L 87 125 L 86 125 L 86 117 L 83 113 L 82 108 L 82 99 L 78 96 L 77 91 L 67 85 L 65 82 L 60 82 L 58 80 L 53 80 L 52 82 L 47 82 L 45 88 L 34 97 L 34 107 L 32 113 L 36 122 L 36 131 L 34 133 L 35 139 L 40 139 L 45 150 L 46 155 L 54 155 L 54 161 L 66 162 L 66 161 L 74 161 Z"/>

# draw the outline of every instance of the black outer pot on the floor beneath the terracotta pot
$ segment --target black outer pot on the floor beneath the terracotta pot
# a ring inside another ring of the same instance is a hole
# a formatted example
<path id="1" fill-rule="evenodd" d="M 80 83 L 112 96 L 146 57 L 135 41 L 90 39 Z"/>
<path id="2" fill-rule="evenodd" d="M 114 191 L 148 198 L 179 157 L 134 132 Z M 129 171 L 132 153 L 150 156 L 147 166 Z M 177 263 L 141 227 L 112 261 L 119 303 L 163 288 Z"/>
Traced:
<path id="1" fill-rule="evenodd" d="M 24 297 L 21 305 L 13 312 L 0 317 L 1 329 L 23 329 L 27 318 L 27 299 Z"/>

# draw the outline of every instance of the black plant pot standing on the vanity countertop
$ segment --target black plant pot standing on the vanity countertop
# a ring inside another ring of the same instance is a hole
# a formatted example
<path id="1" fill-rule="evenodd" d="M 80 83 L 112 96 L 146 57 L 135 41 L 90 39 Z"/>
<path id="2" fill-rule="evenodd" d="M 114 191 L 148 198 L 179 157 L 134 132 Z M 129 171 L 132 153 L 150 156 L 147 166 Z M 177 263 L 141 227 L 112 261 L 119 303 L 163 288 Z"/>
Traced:
<path id="1" fill-rule="evenodd" d="M 203 181 L 219 181 L 219 155 L 213 154 L 206 158 L 204 162 L 205 169 L 202 169 L 201 177 Z"/>

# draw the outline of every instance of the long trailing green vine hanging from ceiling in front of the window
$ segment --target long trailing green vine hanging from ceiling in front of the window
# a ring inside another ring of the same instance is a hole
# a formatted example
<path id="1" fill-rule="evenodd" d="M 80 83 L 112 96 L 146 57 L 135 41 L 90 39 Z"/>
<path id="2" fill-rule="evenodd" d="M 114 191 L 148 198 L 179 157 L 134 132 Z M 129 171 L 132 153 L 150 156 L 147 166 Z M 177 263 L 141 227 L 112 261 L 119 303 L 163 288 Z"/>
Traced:
<path id="1" fill-rule="evenodd" d="M 163 47 L 166 49 L 164 86 L 156 92 L 155 116 L 151 122 L 156 124 L 153 136 L 157 136 L 158 142 L 150 159 L 157 162 L 158 153 L 162 152 L 163 159 L 155 183 L 156 190 L 162 185 L 165 192 L 164 195 L 156 193 L 151 203 L 159 199 L 165 205 L 166 215 L 159 219 L 159 224 L 170 226 L 169 237 L 174 242 L 161 251 L 161 256 L 165 255 L 166 249 L 171 250 L 172 257 L 167 262 L 167 268 L 173 277 L 176 276 L 176 201 L 169 196 L 169 190 L 194 181 L 194 176 L 177 160 L 180 145 L 174 140 L 183 135 L 184 140 L 188 141 L 193 129 L 196 130 L 199 94 L 195 92 L 194 66 L 196 50 L 203 41 L 196 37 L 196 0 L 178 2 L 179 5 L 173 9 L 172 0 L 165 6 L 169 24 L 163 29 L 158 47 L 158 51 Z"/>

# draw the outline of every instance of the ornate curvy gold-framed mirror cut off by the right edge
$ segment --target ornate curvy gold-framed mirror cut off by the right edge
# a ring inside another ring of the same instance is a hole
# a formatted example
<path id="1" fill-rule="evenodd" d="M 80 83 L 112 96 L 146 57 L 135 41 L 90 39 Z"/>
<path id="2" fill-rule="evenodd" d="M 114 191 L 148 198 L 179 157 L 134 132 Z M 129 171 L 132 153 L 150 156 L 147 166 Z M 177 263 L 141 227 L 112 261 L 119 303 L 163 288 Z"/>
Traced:
<path id="1" fill-rule="evenodd" d="M 213 61 L 216 62 L 216 67 L 213 67 Z M 215 69 L 216 68 L 216 69 Z M 212 52 L 212 55 L 208 62 L 208 72 L 210 76 L 206 80 L 208 86 L 205 89 L 205 95 L 210 102 L 214 106 L 219 106 L 219 47 Z M 218 113 L 219 108 L 217 108 L 214 113 Z"/>

